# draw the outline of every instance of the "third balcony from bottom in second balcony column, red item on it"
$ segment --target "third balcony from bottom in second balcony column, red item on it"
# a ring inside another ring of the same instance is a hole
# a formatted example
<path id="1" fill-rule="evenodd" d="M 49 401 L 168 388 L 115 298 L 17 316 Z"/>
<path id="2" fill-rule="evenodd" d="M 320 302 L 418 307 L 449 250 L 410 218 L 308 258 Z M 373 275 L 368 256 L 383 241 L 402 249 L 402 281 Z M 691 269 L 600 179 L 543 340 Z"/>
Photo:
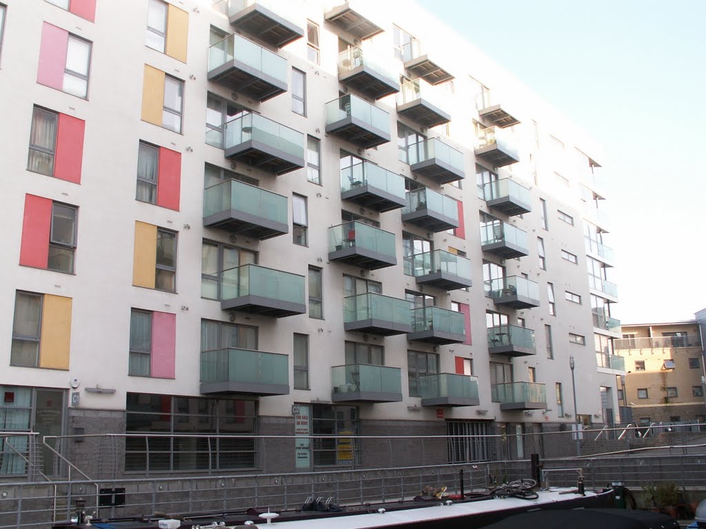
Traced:
<path id="1" fill-rule="evenodd" d="M 395 235 L 360 221 L 328 229 L 328 259 L 366 270 L 393 267 Z"/>

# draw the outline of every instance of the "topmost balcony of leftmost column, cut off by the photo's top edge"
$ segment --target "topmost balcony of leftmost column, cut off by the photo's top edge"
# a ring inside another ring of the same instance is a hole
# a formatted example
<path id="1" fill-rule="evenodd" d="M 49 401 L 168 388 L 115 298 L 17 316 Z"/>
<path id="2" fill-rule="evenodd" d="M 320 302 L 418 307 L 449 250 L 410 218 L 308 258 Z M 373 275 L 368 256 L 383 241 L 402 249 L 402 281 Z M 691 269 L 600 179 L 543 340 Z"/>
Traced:
<path id="1" fill-rule="evenodd" d="M 229 0 L 230 23 L 239 30 L 281 48 L 304 37 L 304 30 L 292 20 L 304 21 L 297 3 L 288 0 Z"/>

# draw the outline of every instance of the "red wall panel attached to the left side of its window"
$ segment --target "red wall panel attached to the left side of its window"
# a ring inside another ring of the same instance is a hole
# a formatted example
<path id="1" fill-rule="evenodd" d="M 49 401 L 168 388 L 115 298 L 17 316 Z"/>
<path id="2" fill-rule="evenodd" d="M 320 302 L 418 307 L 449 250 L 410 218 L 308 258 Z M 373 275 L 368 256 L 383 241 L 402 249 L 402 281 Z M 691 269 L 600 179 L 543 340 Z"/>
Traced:
<path id="1" fill-rule="evenodd" d="M 52 200 L 25 195 L 20 265 L 46 268 L 49 260 L 49 231 L 52 229 Z"/>

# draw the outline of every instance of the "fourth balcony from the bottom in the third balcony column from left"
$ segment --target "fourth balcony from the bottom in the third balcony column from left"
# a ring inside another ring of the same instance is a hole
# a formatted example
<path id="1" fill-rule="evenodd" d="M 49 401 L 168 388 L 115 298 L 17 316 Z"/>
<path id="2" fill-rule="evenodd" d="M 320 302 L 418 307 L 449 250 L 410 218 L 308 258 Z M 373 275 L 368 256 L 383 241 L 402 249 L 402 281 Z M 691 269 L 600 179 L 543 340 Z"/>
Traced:
<path id="1" fill-rule="evenodd" d="M 407 191 L 406 199 L 402 222 L 434 233 L 458 227 L 458 204 L 453 198 L 429 188 L 419 188 Z"/>

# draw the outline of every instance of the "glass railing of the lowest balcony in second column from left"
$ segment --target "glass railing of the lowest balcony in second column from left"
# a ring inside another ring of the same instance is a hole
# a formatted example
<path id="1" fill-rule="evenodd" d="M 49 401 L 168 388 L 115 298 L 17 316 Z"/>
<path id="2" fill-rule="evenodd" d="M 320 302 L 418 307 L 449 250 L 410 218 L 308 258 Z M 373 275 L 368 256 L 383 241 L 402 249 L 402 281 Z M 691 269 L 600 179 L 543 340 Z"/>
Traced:
<path id="1" fill-rule="evenodd" d="M 331 367 L 331 383 L 335 394 L 359 392 L 401 397 L 402 371 L 383 365 L 336 365 Z"/>

